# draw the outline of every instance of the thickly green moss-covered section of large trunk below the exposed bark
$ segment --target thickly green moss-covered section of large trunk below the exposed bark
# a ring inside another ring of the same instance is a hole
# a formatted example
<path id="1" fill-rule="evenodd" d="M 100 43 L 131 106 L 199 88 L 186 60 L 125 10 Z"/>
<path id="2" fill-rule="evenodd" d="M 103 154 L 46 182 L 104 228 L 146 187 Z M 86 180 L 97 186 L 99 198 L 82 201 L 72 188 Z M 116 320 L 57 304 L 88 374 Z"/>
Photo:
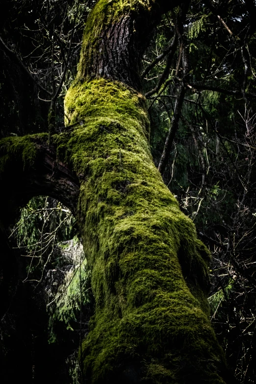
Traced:
<path id="1" fill-rule="evenodd" d="M 85 378 L 224 383 L 206 301 L 209 255 L 154 166 L 143 96 L 105 79 L 77 83 L 66 114 L 83 121 L 65 148 L 84 174 L 77 216 L 96 302 Z"/>

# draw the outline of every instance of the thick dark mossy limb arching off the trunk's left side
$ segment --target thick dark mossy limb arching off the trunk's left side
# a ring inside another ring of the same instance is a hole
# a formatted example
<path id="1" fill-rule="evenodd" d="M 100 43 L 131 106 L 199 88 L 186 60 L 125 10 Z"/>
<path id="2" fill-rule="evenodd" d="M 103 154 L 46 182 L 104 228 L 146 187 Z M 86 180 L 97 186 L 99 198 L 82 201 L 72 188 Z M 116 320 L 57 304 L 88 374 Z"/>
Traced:
<path id="1" fill-rule="evenodd" d="M 0 182 L 0 216 L 5 216 L 5 222 L 11 223 L 11 212 L 41 194 L 56 197 L 76 211 L 79 181 L 59 161 L 54 144 L 48 143 L 47 133 L 0 140 Z"/>

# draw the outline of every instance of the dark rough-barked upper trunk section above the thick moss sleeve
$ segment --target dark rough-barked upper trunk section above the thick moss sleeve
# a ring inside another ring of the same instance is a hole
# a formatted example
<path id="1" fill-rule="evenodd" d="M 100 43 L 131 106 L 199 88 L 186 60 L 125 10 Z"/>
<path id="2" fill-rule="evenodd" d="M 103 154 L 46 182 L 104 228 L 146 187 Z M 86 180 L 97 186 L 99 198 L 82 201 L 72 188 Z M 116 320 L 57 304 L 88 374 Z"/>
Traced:
<path id="1" fill-rule="evenodd" d="M 153 26 L 177 1 L 99 0 L 85 26 L 77 79 L 104 77 L 140 90 Z"/>

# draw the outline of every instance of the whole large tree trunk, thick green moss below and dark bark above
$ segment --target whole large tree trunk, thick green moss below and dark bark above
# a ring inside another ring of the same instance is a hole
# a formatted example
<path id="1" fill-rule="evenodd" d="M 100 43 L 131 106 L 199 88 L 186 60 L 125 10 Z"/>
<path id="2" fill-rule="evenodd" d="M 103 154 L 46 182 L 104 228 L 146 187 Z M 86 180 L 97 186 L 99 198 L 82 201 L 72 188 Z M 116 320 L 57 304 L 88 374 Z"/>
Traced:
<path id="1" fill-rule="evenodd" d="M 52 137 L 56 161 L 48 170 L 56 177 L 61 164 L 75 175 L 64 172 L 70 191 L 63 178 L 50 192 L 66 204 L 70 194 L 74 206 L 79 184 L 73 211 L 92 270 L 95 315 L 82 346 L 87 383 L 228 382 L 206 301 L 209 254 L 154 166 L 140 93 L 142 53 L 171 5 L 97 1 L 65 100 L 73 128 Z M 13 153 L 26 172 L 40 169 L 46 143 L 46 135 L 6 139 L 2 173 Z"/>

